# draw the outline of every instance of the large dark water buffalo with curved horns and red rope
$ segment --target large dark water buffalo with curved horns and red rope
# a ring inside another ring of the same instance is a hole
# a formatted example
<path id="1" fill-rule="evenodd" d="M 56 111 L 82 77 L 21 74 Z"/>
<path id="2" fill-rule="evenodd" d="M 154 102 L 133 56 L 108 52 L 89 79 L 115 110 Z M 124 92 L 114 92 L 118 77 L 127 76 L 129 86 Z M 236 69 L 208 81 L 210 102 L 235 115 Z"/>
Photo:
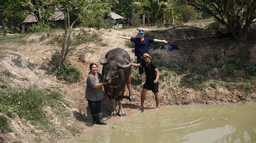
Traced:
<path id="1" fill-rule="evenodd" d="M 131 63 L 127 64 L 125 58 L 131 61 L 129 54 L 121 49 L 115 48 L 108 51 L 105 55 L 105 59 L 100 57 L 100 63 L 103 65 L 102 75 L 104 75 L 104 82 L 108 84 L 104 85 L 104 90 L 111 100 L 111 116 L 116 116 L 116 101 L 118 102 L 119 116 L 125 116 L 125 112 L 122 110 L 122 99 L 125 98 L 125 84 L 129 90 L 129 100 L 134 101 L 134 96 L 131 90 Z"/>

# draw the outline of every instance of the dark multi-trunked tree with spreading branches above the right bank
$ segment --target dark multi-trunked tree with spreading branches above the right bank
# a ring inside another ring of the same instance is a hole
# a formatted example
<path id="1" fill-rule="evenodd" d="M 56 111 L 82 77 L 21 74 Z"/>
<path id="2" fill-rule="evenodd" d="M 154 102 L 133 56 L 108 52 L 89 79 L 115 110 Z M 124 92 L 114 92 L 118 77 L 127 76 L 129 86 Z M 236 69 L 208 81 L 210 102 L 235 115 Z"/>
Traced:
<path id="1" fill-rule="evenodd" d="M 246 40 L 256 17 L 256 0 L 183 0 L 195 9 L 211 14 L 236 39 Z"/>

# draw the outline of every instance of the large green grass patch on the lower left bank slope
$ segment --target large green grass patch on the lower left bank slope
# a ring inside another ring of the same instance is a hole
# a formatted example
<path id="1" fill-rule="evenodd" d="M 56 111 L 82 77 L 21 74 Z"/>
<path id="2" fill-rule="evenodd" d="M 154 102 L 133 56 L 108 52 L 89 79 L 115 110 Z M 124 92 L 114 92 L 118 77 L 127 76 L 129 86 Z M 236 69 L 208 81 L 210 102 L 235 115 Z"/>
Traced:
<path id="1" fill-rule="evenodd" d="M 64 102 L 61 93 L 50 89 L 1 90 L 0 112 L 5 113 L 10 118 L 18 115 L 33 125 L 40 126 L 45 131 L 55 130 L 42 107 L 55 107 L 55 103 L 59 101 Z"/>

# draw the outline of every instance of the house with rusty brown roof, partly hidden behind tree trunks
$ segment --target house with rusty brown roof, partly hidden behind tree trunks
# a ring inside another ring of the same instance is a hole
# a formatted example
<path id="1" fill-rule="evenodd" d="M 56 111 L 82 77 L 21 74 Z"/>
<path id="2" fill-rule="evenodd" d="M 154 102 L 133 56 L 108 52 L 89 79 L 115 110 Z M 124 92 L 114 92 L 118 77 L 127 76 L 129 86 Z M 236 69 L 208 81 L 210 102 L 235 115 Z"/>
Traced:
<path id="1" fill-rule="evenodd" d="M 55 25 L 59 26 L 60 28 L 64 28 L 64 14 L 61 11 L 55 11 L 51 19 L 47 21 L 52 21 Z M 33 14 L 29 14 L 23 21 L 23 25 L 26 28 L 29 28 L 37 22 L 38 21 L 36 20 L 35 16 Z"/>

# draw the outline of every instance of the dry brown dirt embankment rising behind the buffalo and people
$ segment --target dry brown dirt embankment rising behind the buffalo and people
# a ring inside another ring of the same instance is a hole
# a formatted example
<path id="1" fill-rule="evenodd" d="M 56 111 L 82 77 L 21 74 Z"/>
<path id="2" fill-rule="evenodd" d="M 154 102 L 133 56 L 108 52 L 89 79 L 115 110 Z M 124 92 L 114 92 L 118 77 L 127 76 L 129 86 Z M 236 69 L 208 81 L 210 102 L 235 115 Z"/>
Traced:
<path id="1" fill-rule="evenodd" d="M 244 92 L 246 87 L 228 88 L 224 85 L 227 82 L 241 82 L 239 79 L 228 76 L 222 80 L 223 75 L 229 72 L 229 68 L 225 66 L 227 61 L 233 55 L 241 52 L 247 45 L 234 42 L 232 39 L 192 38 L 200 36 L 212 36 L 213 31 L 200 29 L 174 29 L 166 32 L 154 32 L 154 28 L 145 29 L 151 36 L 157 39 L 166 39 L 169 42 L 176 42 L 179 45 L 178 50 L 169 51 L 168 45 L 165 49 L 150 48 L 150 54 L 153 60 L 162 68 L 160 70 L 160 105 L 179 105 L 179 104 L 221 104 L 221 103 L 237 103 L 237 102 L 255 102 L 256 92 L 249 92 L 246 97 Z M 158 29 L 159 30 L 159 29 Z M 95 62 L 101 71 L 102 66 L 99 64 L 100 55 L 105 55 L 108 50 L 113 48 L 123 48 L 128 51 L 131 58 L 135 58 L 131 51 L 131 44 L 128 40 L 118 39 L 118 35 L 136 36 L 136 29 L 120 30 L 101 29 L 99 31 L 90 29 L 75 28 L 72 36 L 72 41 L 78 41 L 82 38 L 84 42 L 76 43 L 70 47 L 68 59 L 70 62 L 79 67 L 83 73 L 83 79 L 74 84 L 64 81 L 59 81 L 52 73 L 48 62 L 51 55 L 56 50 L 61 50 L 58 46 L 61 33 L 56 34 L 33 34 L 24 38 L 25 44 L 5 44 L 1 46 L 1 50 L 5 52 L 3 57 L 0 56 L 0 69 L 9 70 L 16 76 L 15 79 L 9 82 L 13 88 L 27 88 L 30 86 L 38 86 L 39 88 L 63 88 L 65 91 L 64 98 L 70 104 L 69 107 L 64 106 L 64 109 L 72 112 L 72 116 L 68 123 L 78 132 L 84 132 L 92 129 L 91 115 L 87 107 L 87 101 L 84 99 L 84 90 L 86 87 L 86 78 L 89 73 L 89 64 Z M 93 40 L 83 37 L 84 35 L 94 35 Z M 191 40 L 174 41 L 173 39 L 190 38 Z M 153 45 L 154 46 L 154 45 Z M 15 51 L 10 49 L 16 49 Z M 250 54 L 250 62 L 256 62 L 255 58 L 256 45 L 251 45 L 248 54 Z M 1 53 L 1 52 L 0 52 Z M 221 66 L 212 67 L 216 63 Z M 184 65 L 184 66 L 182 66 Z M 201 73 L 192 72 L 196 65 Z M 166 69 L 164 69 L 166 67 Z M 168 69 L 168 68 L 169 69 Z M 186 67 L 186 68 L 185 68 Z M 170 69 L 179 69 L 177 72 L 172 72 Z M 139 82 L 139 77 L 136 76 L 137 69 L 133 68 L 132 80 Z M 237 75 L 247 74 L 245 70 L 233 70 Z M 193 82 L 198 81 L 198 82 Z M 140 105 L 140 93 L 142 86 L 134 82 L 133 92 L 136 98 L 135 102 L 123 100 L 123 108 L 126 115 L 133 112 L 138 112 L 136 108 Z M 217 84 L 216 84 L 217 82 Z M 204 84 L 202 84 L 204 83 Z M 214 84 L 215 83 L 215 84 Z M 0 82 L 3 85 L 3 82 Z M 193 86 L 197 85 L 197 86 Z M 195 88 L 198 87 L 198 88 Z M 255 88 L 255 85 L 252 86 Z M 251 91 L 251 90 L 250 90 Z M 255 89 L 252 89 L 255 91 Z M 128 95 L 128 90 L 125 90 L 125 95 Z M 148 92 L 146 95 L 145 109 L 155 107 L 154 94 Z M 109 113 L 111 105 L 107 96 L 103 99 L 103 115 L 105 120 L 111 120 Z M 46 110 L 49 117 L 52 117 L 52 123 L 58 124 L 59 121 L 54 118 L 55 115 L 50 110 Z M 122 117 L 114 117 L 122 118 Z M 1 135 L 7 142 L 20 138 L 24 143 L 35 142 L 35 139 L 40 135 L 44 142 L 68 142 L 68 139 L 73 137 L 72 132 L 67 129 L 60 129 L 55 134 L 51 135 L 43 132 L 32 126 L 29 122 L 20 118 L 9 119 L 11 121 L 14 133 Z"/>

